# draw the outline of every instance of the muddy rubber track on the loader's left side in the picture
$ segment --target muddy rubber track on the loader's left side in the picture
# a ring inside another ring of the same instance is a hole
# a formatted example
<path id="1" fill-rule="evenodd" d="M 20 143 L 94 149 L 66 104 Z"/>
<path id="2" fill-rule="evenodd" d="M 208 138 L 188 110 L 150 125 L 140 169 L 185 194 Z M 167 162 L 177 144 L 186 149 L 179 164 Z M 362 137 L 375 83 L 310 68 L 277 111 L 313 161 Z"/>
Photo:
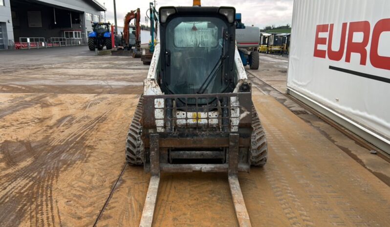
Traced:
<path id="1" fill-rule="evenodd" d="M 127 134 L 126 161 L 130 165 L 142 165 L 144 163 L 145 149 L 141 139 L 142 125 L 140 122 L 142 117 L 142 100 L 143 96 L 141 95 Z"/>

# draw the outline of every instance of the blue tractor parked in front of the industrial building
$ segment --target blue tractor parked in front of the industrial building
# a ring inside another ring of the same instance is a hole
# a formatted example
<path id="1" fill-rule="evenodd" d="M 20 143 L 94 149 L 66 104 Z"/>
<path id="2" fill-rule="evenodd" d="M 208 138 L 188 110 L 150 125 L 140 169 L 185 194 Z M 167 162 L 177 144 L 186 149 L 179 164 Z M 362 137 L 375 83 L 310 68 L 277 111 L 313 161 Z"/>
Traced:
<path id="1" fill-rule="evenodd" d="M 93 51 L 95 48 L 103 50 L 106 46 L 107 50 L 112 48 L 111 44 L 111 32 L 109 30 L 110 23 L 93 22 L 93 32 L 88 34 L 88 48 Z"/>

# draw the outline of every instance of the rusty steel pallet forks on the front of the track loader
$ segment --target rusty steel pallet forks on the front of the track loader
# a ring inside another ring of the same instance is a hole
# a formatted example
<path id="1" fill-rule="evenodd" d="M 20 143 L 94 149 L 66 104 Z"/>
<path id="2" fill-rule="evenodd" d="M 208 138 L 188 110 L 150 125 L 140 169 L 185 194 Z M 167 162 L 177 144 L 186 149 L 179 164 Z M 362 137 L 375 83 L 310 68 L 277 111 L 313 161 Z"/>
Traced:
<path id="1" fill-rule="evenodd" d="M 142 211 L 140 227 L 151 227 L 153 223 L 153 214 L 157 201 L 158 186 L 160 183 L 160 171 L 169 172 L 227 172 L 230 192 L 232 194 L 233 204 L 236 211 L 238 225 L 240 227 L 251 227 L 248 211 L 242 196 L 241 188 L 238 182 L 238 140 L 237 133 L 229 134 L 229 152 L 228 164 L 182 164 L 181 168 L 173 168 L 174 165 L 168 165 L 162 168 L 159 161 L 159 134 L 150 135 L 150 159 L 151 159 L 151 179 L 148 192 L 146 194 L 144 209 Z"/>

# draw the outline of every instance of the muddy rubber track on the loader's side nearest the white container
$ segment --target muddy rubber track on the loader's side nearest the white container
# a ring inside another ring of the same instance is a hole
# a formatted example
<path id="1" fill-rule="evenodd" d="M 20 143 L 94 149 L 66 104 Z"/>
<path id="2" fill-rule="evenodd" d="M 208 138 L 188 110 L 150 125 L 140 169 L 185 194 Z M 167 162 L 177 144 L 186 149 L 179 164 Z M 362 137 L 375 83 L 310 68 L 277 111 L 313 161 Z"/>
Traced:
<path id="1" fill-rule="evenodd" d="M 252 106 L 251 165 L 263 167 L 267 163 L 267 139 L 255 106 Z"/>

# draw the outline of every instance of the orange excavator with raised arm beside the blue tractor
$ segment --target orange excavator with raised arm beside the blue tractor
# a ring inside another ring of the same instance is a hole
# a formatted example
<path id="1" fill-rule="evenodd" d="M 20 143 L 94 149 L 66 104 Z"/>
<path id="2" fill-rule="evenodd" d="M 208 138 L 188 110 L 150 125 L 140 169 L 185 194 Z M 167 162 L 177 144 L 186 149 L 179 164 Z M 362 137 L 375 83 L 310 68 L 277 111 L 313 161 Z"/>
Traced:
<path id="1" fill-rule="evenodd" d="M 122 35 L 122 44 L 124 48 L 130 49 L 130 21 L 132 19 L 135 19 L 134 25 L 135 25 L 135 49 L 133 52 L 133 57 L 141 57 L 142 51 L 141 51 L 141 13 L 139 8 L 136 10 L 132 10 L 129 13 L 126 14 L 126 17 L 124 19 L 124 27 L 123 27 L 123 35 Z"/>

